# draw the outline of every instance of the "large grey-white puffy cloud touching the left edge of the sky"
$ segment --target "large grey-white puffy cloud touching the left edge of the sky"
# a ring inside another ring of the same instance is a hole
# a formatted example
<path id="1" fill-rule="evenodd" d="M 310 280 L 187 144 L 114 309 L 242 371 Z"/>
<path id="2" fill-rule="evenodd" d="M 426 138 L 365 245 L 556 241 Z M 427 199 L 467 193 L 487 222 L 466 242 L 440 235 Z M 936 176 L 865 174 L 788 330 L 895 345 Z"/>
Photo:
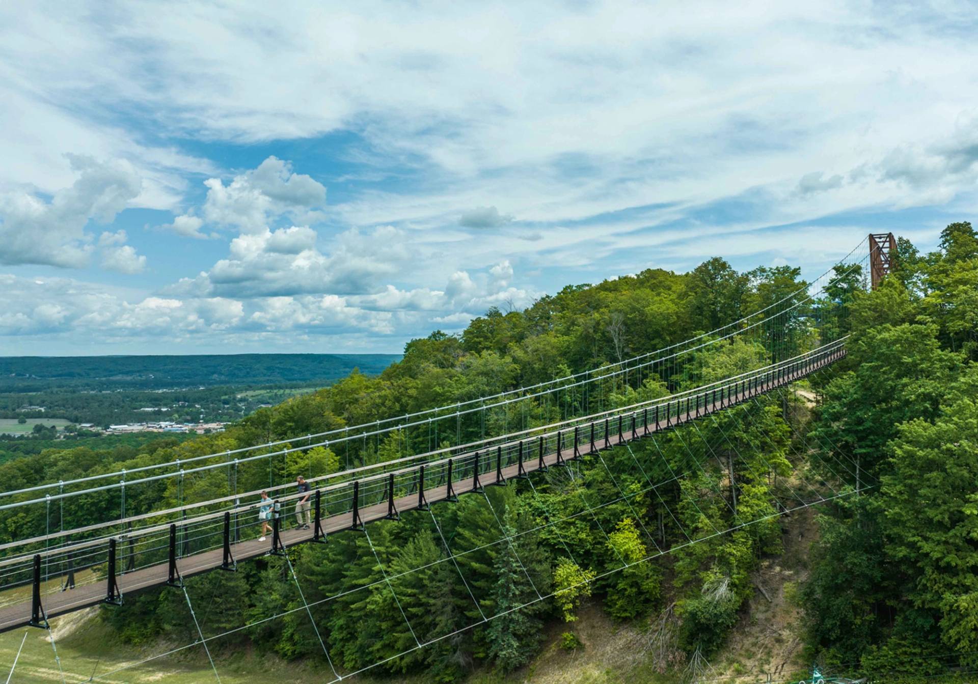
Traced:
<path id="1" fill-rule="evenodd" d="M 0 193 L 0 263 L 85 266 L 93 251 L 89 221 L 110 223 L 140 192 L 139 174 L 128 161 L 67 157 L 77 178 L 50 200 Z"/>

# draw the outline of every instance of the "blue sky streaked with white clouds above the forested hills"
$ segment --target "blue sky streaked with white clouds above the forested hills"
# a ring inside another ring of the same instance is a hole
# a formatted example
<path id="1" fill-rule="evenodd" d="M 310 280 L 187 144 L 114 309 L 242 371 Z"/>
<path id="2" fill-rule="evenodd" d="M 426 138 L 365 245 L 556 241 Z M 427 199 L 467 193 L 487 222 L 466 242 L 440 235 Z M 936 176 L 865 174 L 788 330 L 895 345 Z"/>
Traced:
<path id="1" fill-rule="evenodd" d="M 978 7 L 794 5 L 5 3 L 0 354 L 400 352 L 974 220 Z"/>

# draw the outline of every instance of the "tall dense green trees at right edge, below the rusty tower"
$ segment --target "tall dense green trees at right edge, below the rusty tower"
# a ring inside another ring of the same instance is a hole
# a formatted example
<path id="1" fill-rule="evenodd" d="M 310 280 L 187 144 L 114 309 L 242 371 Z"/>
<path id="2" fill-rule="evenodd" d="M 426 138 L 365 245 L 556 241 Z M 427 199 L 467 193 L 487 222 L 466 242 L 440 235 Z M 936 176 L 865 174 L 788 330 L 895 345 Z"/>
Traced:
<path id="1" fill-rule="evenodd" d="M 827 662 L 920 675 L 978 665 L 978 240 L 901 240 L 899 268 L 852 308 L 815 431 L 855 454 L 872 495 L 820 519 L 804 588 Z"/>

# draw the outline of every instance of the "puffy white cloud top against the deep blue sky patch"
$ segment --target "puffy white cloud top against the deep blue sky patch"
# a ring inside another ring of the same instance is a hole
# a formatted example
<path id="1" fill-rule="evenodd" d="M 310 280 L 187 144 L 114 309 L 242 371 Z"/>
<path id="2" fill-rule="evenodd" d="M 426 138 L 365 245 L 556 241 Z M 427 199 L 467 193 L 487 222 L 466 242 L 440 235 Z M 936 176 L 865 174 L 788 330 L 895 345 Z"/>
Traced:
<path id="1" fill-rule="evenodd" d="M 219 178 L 204 181 L 207 198 L 203 217 L 244 234 L 268 230 L 270 215 L 287 215 L 297 221 L 320 217 L 316 211 L 326 201 L 326 188 L 310 176 L 292 171 L 291 164 L 275 156 L 245 171 L 224 185 Z"/>

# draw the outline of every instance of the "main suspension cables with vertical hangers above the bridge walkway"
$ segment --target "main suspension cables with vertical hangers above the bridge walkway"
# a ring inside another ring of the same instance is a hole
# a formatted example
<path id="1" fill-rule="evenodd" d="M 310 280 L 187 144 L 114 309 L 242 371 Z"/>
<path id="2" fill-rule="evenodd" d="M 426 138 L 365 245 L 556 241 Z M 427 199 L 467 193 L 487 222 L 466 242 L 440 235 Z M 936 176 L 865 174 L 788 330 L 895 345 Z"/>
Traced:
<path id="1" fill-rule="evenodd" d="M 851 254 L 847 255 L 843 261 L 848 260 Z M 867 257 L 862 257 L 858 261 L 854 260 L 853 264 L 847 264 L 849 271 L 859 268 L 862 261 L 866 259 Z M 836 278 L 846 277 L 849 271 L 836 274 Z M 338 449 L 350 449 L 352 446 L 354 460 L 362 459 L 368 449 L 365 447 L 360 449 L 358 453 L 357 444 L 359 442 L 363 441 L 366 445 L 368 441 L 373 440 L 378 443 L 379 439 L 398 430 L 409 433 L 414 430 L 414 444 L 410 444 L 411 436 L 408 435 L 407 437 L 409 450 L 421 450 L 424 447 L 423 444 L 419 443 L 417 433 L 423 432 L 425 428 L 428 428 L 430 432 L 430 427 L 434 424 L 437 434 L 437 425 L 440 421 L 458 423 L 462 426 L 458 434 L 452 436 L 455 447 L 471 446 L 473 444 L 471 438 L 476 434 L 482 434 L 475 427 L 480 422 L 480 416 L 492 416 L 493 411 L 495 411 L 495 415 L 501 415 L 503 412 L 511 410 L 515 403 L 527 402 L 529 407 L 533 408 L 534 402 L 541 403 L 548 398 L 553 399 L 552 395 L 555 392 L 557 398 L 562 392 L 564 399 L 566 399 L 568 392 L 576 393 L 579 396 L 589 385 L 592 386 L 592 392 L 598 391 L 599 394 L 601 392 L 606 394 L 606 385 L 621 383 L 622 376 L 624 376 L 627 384 L 629 373 L 632 374 L 633 380 L 637 373 L 645 372 L 646 374 L 656 374 L 668 382 L 677 374 L 682 375 L 685 372 L 684 364 L 691 363 L 693 358 L 700 353 L 700 350 L 711 345 L 719 345 L 734 337 L 757 341 L 772 336 L 778 337 L 778 335 L 780 335 L 779 339 L 783 339 L 787 335 L 793 339 L 795 333 L 791 332 L 794 329 L 792 322 L 803 321 L 802 326 L 806 328 L 815 324 L 814 321 L 811 321 L 811 312 L 803 314 L 800 308 L 813 301 L 817 293 L 823 291 L 825 284 L 835 279 L 829 278 L 831 273 L 833 272 L 826 272 L 817 278 L 815 282 L 823 281 L 818 290 L 815 289 L 814 285 L 807 288 L 807 292 L 806 288 L 798 289 L 781 298 L 778 302 L 739 321 L 733 321 L 709 333 L 698 335 L 662 350 L 640 355 L 634 359 L 612 363 L 605 367 L 567 375 L 564 378 L 557 378 L 528 387 L 508 390 L 489 397 L 405 413 L 374 422 L 316 434 L 296 435 L 286 440 L 268 442 L 264 445 L 191 455 L 184 459 L 176 459 L 166 463 L 139 466 L 128 472 L 123 470 L 100 473 L 65 482 L 49 482 L 19 490 L 0 492 L 0 501 L 2 501 L 0 502 L 0 511 L 13 510 L 23 505 L 32 506 L 32 514 L 23 517 L 20 524 L 23 527 L 31 527 L 36 531 L 36 534 L 45 530 L 45 522 L 50 522 L 53 527 L 61 530 L 77 527 L 78 523 L 86 518 L 92 523 L 103 522 L 102 520 L 93 520 L 95 515 L 105 516 L 107 522 L 110 516 L 125 518 L 127 512 L 142 512 L 151 515 L 154 512 L 152 507 L 162 498 L 161 493 L 166 491 L 165 488 L 189 489 L 183 488 L 185 481 L 190 484 L 195 479 L 215 477 L 217 471 L 220 471 L 222 477 L 227 478 L 226 491 L 229 493 L 229 498 L 233 499 L 235 496 L 243 495 L 238 492 L 239 482 L 244 482 L 244 490 L 250 490 L 251 486 L 258 482 L 256 473 L 261 470 L 262 466 L 270 466 L 273 462 L 279 463 L 290 456 L 294 457 L 297 452 L 317 446 L 328 447 L 338 452 Z M 773 345 L 774 342 L 771 344 Z M 782 345 L 778 344 L 778 348 L 781 347 Z M 769 351 L 772 352 L 773 358 L 778 358 L 773 348 Z M 536 407 L 540 408 L 540 406 Z M 590 413 L 590 406 L 587 409 L 582 406 L 579 412 Z M 547 419 L 549 420 L 549 418 Z M 505 431 L 508 432 L 508 430 Z M 484 437 L 484 434 L 482 436 Z M 437 439 L 435 439 L 435 445 L 437 445 Z M 429 440 L 427 450 L 420 455 L 433 453 L 434 451 L 430 449 L 431 446 Z M 269 486 L 275 486 L 272 478 L 269 478 L 267 482 Z M 285 489 L 289 487 L 289 484 L 281 484 L 277 487 Z M 212 490 L 208 494 L 212 495 Z M 183 502 L 186 503 L 191 500 L 193 497 L 187 497 Z M 142 508 L 138 508 L 138 506 L 142 506 Z"/>

